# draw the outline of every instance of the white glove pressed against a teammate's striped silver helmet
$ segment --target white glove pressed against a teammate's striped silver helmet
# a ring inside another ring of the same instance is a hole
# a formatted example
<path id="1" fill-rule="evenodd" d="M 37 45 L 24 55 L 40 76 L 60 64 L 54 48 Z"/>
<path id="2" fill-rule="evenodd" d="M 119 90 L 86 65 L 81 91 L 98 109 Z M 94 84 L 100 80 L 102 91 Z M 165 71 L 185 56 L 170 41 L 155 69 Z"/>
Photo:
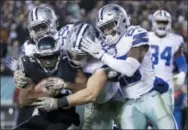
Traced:
<path id="1" fill-rule="evenodd" d="M 82 38 L 81 49 L 96 59 L 101 59 L 105 53 L 100 43 L 95 43 L 88 37 Z"/>

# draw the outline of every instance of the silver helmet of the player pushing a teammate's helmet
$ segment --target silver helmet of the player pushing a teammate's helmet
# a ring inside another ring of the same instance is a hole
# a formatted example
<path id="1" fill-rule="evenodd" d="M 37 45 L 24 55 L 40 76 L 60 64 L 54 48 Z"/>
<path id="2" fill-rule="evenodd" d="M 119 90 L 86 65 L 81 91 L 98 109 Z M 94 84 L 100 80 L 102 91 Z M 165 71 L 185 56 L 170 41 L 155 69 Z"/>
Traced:
<path id="1" fill-rule="evenodd" d="M 115 44 L 125 28 L 130 25 L 130 18 L 121 6 L 108 4 L 99 10 L 96 24 L 100 32 L 110 41 L 108 44 Z"/>

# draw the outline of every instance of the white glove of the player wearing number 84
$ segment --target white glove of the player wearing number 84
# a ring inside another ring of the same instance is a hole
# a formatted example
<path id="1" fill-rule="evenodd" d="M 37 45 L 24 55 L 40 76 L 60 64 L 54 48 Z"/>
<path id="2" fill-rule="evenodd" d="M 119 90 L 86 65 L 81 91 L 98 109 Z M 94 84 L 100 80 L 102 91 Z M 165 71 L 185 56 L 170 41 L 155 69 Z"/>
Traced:
<path id="1" fill-rule="evenodd" d="M 182 86 L 185 83 L 186 74 L 184 72 L 180 72 L 174 75 L 174 80 L 177 86 Z"/>

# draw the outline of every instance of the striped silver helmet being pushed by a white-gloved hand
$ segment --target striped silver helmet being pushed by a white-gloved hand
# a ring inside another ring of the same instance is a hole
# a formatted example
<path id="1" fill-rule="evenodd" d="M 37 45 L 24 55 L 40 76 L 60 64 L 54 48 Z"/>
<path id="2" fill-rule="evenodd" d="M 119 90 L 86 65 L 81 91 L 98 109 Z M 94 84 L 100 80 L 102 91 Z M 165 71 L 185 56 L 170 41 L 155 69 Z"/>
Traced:
<path id="1" fill-rule="evenodd" d="M 81 50 L 83 36 L 95 40 L 95 29 L 87 23 L 79 23 L 67 36 L 68 60 L 73 67 L 81 67 L 85 65 L 89 58 L 89 54 Z"/>

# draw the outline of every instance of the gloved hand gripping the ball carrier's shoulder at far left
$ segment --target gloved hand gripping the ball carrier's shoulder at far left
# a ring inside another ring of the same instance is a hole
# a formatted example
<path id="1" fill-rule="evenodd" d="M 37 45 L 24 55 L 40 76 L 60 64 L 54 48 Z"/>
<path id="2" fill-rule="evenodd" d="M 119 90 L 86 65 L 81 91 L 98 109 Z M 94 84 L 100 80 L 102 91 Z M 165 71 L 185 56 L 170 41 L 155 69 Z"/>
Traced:
<path id="1" fill-rule="evenodd" d="M 25 76 L 25 73 L 22 70 L 16 70 L 14 72 L 14 80 L 16 87 L 18 88 L 25 88 L 30 81 L 30 78 Z"/>

